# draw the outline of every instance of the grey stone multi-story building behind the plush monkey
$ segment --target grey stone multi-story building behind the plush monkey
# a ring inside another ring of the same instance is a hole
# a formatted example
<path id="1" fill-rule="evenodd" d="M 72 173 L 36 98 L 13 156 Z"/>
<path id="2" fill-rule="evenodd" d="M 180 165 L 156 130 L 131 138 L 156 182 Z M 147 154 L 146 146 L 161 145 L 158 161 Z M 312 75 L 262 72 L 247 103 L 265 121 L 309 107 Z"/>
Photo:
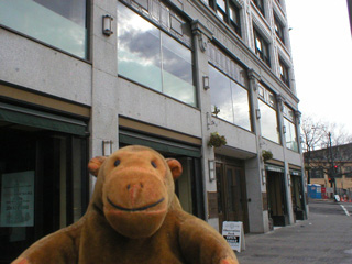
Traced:
<path id="1" fill-rule="evenodd" d="M 89 157 L 129 144 L 178 158 L 219 231 L 307 217 L 284 0 L 1 0 L 0 47 L 2 262 L 76 221 Z"/>

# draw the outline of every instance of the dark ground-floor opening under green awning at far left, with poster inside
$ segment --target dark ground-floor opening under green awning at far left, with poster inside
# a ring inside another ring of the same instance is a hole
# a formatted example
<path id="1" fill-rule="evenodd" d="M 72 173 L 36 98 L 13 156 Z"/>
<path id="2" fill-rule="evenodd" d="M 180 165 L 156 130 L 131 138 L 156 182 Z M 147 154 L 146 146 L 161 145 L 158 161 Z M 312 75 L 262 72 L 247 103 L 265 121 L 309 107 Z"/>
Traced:
<path id="1" fill-rule="evenodd" d="M 0 122 L 0 263 L 77 221 L 88 204 L 86 139 Z"/>

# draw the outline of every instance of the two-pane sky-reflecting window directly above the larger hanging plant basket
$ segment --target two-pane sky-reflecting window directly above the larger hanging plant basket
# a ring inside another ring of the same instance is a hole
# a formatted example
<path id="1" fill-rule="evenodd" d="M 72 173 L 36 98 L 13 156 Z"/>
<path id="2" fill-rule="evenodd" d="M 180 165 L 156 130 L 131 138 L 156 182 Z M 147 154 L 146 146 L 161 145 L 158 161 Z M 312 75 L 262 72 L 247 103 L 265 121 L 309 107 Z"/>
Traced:
<path id="1" fill-rule="evenodd" d="M 210 96 L 217 117 L 251 130 L 249 92 L 242 86 L 209 65 Z"/>

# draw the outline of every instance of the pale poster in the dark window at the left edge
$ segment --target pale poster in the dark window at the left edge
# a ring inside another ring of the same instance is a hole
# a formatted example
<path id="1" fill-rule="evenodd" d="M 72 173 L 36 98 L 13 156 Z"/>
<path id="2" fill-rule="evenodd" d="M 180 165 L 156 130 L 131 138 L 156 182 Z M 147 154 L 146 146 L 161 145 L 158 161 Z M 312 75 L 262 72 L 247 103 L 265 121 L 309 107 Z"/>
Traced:
<path id="1" fill-rule="evenodd" d="M 34 172 L 2 174 L 0 227 L 34 226 Z"/>

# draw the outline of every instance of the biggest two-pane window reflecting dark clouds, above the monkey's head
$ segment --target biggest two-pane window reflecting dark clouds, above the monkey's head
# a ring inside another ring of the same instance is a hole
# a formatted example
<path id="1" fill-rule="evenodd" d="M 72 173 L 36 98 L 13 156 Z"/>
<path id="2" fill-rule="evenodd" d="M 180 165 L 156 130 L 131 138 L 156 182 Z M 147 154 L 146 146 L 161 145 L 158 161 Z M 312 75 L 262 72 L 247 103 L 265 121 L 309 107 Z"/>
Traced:
<path id="1" fill-rule="evenodd" d="M 161 10 L 161 23 L 169 15 L 165 23 L 182 33 L 177 18 Z M 191 51 L 121 2 L 118 18 L 119 75 L 196 107 Z"/>

